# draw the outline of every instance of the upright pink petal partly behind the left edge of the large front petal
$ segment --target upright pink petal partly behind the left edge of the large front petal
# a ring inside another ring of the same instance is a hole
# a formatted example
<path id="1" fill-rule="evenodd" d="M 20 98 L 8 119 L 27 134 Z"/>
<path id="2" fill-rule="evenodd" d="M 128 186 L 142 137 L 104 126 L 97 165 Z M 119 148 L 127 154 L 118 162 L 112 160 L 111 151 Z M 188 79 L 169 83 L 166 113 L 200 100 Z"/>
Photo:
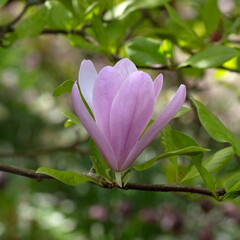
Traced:
<path id="1" fill-rule="evenodd" d="M 122 86 L 123 78 L 114 67 L 104 67 L 98 74 L 93 89 L 93 112 L 98 127 L 110 139 L 110 109 Z"/>

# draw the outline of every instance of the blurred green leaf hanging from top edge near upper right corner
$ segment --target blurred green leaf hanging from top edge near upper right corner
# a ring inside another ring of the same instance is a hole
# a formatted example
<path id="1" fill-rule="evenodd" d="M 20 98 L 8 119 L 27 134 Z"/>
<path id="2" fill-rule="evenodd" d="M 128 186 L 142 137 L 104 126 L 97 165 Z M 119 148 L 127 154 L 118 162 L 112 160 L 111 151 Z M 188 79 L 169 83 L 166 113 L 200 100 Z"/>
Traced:
<path id="1" fill-rule="evenodd" d="M 207 0 L 204 7 L 200 10 L 200 15 L 208 34 L 216 30 L 221 18 L 217 0 Z"/>

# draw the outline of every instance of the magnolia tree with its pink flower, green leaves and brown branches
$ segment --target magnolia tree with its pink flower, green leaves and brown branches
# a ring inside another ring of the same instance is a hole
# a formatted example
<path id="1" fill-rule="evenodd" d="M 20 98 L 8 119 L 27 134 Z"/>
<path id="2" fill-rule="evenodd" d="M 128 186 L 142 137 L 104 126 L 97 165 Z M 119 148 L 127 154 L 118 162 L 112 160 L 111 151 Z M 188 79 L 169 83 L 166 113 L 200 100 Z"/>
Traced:
<path id="1" fill-rule="evenodd" d="M 13 2 L 0 0 L 0 7 L 7 9 Z M 71 95 L 74 112 L 64 112 L 68 118 L 65 127 L 83 125 L 90 135 L 89 171 L 60 171 L 42 164 L 33 170 L 0 163 L 1 171 L 39 181 L 57 179 L 73 186 L 90 182 L 100 188 L 189 192 L 219 201 L 239 196 L 239 167 L 225 178 L 218 174 L 232 159 L 239 159 L 239 132 L 230 131 L 231 126 L 195 99 L 207 69 L 223 75 L 239 73 L 238 2 L 230 1 L 233 7 L 226 10 L 217 0 L 192 1 L 192 9 L 186 13 L 189 16 L 184 16 L 177 1 L 170 0 L 19 2 L 22 9 L 18 15 L 4 16 L 0 25 L 2 49 L 40 35 L 61 35 L 74 47 L 107 57 L 111 64 L 97 72 L 89 57 L 81 62 L 78 78 L 77 72 L 72 76 L 77 81 L 67 80 L 52 89 L 55 97 Z M 154 80 L 145 72 L 149 70 L 158 74 Z M 178 90 L 155 117 L 154 105 L 164 84 L 161 72 L 174 73 Z M 232 93 L 236 91 L 232 87 Z M 195 116 L 192 121 L 197 128 L 204 128 L 212 138 L 210 142 L 218 142 L 218 148 L 207 142 L 200 146 L 198 136 L 195 140 L 188 135 L 195 129 L 175 130 L 171 120 L 176 123 L 189 113 Z M 136 162 L 159 134 L 160 155 Z M 3 151 L 0 156 L 19 153 Z M 189 161 L 181 161 L 183 157 Z M 132 174 L 154 168 L 162 159 L 171 164 L 167 184 L 131 181 Z M 199 177 L 200 186 L 194 181 Z"/>

